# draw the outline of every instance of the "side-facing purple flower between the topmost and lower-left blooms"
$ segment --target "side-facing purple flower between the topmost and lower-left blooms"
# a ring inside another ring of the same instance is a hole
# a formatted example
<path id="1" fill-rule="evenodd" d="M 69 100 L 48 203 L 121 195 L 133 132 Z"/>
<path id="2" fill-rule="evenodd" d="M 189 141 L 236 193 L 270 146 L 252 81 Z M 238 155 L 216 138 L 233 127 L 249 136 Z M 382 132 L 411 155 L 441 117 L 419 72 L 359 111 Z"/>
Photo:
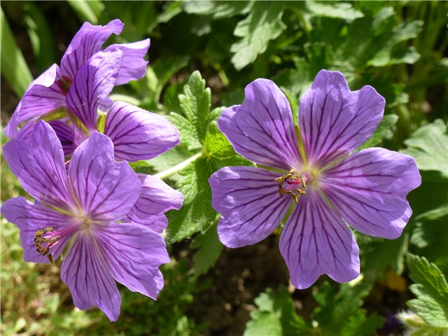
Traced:
<path id="1" fill-rule="evenodd" d="M 65 156 L 95 131 L 111 138 L 118 160 L 150 160 L 179 144 L 179 131 L 167 118 L 108 98 L 123 55 L 99 51 L 78 69 L 64 102 L 67 118 L 50 122 Z M 20 139 L 28 139 L 34 125 L 31 120 L 22 127 Z"/>

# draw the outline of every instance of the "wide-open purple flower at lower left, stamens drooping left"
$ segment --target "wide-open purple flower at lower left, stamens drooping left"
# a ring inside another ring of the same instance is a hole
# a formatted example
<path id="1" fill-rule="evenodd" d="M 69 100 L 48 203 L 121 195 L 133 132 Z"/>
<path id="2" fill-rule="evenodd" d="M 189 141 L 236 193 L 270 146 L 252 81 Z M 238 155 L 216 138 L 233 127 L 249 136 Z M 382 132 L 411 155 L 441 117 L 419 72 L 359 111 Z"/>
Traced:
<path id="1" fill-rule="evenodd" d="M 26 261 L 54 262 L 70 246 L 61 277 L 74 304 L 97 305 L 111 321 L 118 318 L 121 301 L 114 279 L 157 297 L 163 287 L 158 267 L 169 262 L 160 236 L 163 212 L 181 207 L 181 193 L 116 162 L 111 140 L 98 132 L 76 148 L 68 170 L 55 131 L 43 121 L 30 141 L 13 139 L 3 154 L 36 200 L 15 197 L 1 207 L 20 228 Z"/>

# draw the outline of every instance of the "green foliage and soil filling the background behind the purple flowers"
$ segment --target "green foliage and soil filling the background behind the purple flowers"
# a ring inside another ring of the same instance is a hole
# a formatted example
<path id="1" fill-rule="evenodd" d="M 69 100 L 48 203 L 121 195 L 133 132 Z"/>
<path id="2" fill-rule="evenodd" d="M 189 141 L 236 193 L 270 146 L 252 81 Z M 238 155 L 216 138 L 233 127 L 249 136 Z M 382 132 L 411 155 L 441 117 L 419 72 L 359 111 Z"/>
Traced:
<path id="1" fill-rule="evenodd" d="M 116 323 L 99 309 L 74 309 L 59 267 L 24 262 L 18 229 L 3 218 L 0 332 L 445 335 L 447 13 L 444 1 L 2 1 L 3 125 L 32 78 L 59 63 L 84 21 L 120 18 L 125 29 L 110 43 L 151 38 L 146 77 L 116 87 L 112 98 L 179 127 L 181 146 L 133 168 L 162 172 L 185 202 L 169 213 L 172 262 L 162 267 L 158 301 L 120 290 Z M 412 155 L 423 183 L 409 194 L 414 214 L 402 237 L 356 234 L 358 279 L 339 285 L 321 276 L 311 289 L 294 290 L 278 231 L 257 246 L 223 248 L 207 179 L 221 167 L 250 165 L 216 127 L 223 106 L 241 104 L 244 87 L 263 77 L 281 87 L 297 113 L 300 95 L 321 69 L 342 71 L 351 90 L 372 85 L 386 98 L 384 120 L 364 147 Z M 166 172 L 176 165 L 178 172 Z M 3 160 L 1 200 L 17 195 L 25 193 Z"/>

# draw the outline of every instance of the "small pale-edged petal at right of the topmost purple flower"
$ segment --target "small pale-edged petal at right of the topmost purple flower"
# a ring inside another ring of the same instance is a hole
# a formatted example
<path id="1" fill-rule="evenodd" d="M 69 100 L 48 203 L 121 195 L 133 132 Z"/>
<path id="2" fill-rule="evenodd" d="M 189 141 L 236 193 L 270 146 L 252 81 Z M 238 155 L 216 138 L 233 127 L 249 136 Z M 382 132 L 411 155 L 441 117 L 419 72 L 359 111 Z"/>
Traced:
<path id="1" fill-rule="evenodd" d="M 117 48 L 124 54 L 115 85 L 129 83 L 131 80 L 139 80 L 145 76 L 148 61 L 145 61 L 144 56 L 148 52 L 149 45 L 150 40 L 146 38 L 146 40 L 133 43 L 109 45 L 104 49 L 104 51 L 109 51 Z"/>

